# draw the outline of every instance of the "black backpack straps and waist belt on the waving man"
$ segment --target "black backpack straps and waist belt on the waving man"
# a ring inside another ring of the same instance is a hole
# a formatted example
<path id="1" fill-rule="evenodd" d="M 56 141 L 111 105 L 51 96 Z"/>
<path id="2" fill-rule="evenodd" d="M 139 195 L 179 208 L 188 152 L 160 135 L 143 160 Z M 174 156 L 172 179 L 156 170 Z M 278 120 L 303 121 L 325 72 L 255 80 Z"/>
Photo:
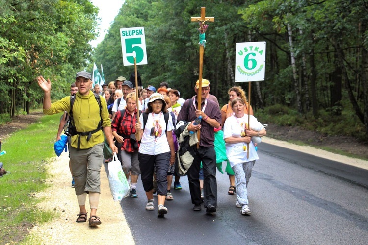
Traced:
<path id="1" fill-rule="evenodd" d="M 89 141 L 92 137 L 92 134 L 102 130 L 102 117 L 101 117 L 101 112 L 102 112 L 102 106 L 101 106 L 101 97 L 100 95 L 97 94 L 93 94 L 97 100 L 97 103 L 100 107 L 100 122 L 97 126 L 97 128 L 95 130 L 89 131 L 89 132 L 78 132 L 76 126 L 74 125 L 74 120 L 73 120 L 73 105 L 74 105 L 74 101 L 76 100 L 76 96 L 72 95 L 70 96 L 70 111 L 69 111 L 69 121 L 68 123 L 68 129 L 65 130 L 65 134 L 67 136 L 73 136 L 73 135 L 79 135 L 78 137 L 78 149 L 80 149 L 80 136 L 87 136 L 87 141 Z"/>

